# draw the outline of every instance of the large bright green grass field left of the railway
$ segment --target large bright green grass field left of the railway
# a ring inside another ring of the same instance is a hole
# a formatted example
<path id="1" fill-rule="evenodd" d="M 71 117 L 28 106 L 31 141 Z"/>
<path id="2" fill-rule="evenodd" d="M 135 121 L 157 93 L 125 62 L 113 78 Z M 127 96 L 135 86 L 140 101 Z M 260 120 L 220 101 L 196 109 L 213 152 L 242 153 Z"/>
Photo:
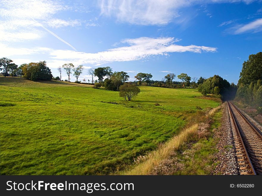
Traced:
<path id="1" fill-rule="evenodd" d="M 127 102 L 85 84 L 0 77 L 1 175 L 110 174 L 177 134 L 196 106 L 219 105 L 196 89 L 140 89 Z"/>

